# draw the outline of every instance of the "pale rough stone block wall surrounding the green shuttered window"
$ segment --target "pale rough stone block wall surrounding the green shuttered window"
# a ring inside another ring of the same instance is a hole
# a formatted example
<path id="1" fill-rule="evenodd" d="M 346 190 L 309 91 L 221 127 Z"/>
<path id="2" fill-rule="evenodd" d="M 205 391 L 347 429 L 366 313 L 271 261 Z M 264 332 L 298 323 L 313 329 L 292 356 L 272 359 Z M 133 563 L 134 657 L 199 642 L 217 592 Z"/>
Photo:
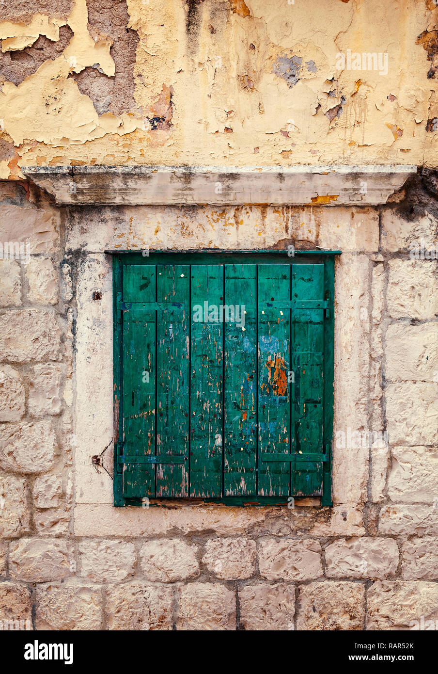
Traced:
<path id="1" fill-rule="evenodd" d="M 436 256 L 409 254 L 437 242 L 438 208 L 419 178 L 375 209 L 62 210 L 24 182 L 1 183 L 0 199 L 0 241 L 25 244 L 22 259 L 0 260 L 0 620 L 49 630 L 438 620 L 438 270 Z M 342 249 L 334 507 L 113 508 L 108 251 L 286 255 L 290 243 Z M 372 446 L 358 441 L 366 432 Z"/>

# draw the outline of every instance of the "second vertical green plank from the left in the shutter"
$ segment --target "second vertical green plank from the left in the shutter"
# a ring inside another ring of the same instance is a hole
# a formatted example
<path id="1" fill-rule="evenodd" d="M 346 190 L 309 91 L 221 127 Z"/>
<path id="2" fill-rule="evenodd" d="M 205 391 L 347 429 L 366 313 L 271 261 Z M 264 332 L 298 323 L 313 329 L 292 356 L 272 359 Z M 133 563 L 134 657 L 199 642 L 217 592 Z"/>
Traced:
<path id="1" fill-rule="evenodd" d="M 158 303 L 179 302 L 184 309 L 157 311 L 156 453 L 187 456 L 185 464 L 157 464 L 157 497 L 189 495 L 189 316 L 190 267 L 156 269 Z"/>

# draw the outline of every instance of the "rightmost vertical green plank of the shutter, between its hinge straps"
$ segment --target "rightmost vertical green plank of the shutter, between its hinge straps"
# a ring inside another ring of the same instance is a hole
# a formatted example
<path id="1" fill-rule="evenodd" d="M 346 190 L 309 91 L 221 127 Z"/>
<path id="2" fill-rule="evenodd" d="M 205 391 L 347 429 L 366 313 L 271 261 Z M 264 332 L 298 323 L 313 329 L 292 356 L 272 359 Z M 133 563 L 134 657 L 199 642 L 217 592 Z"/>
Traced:
<path id="1" fill-rule="evenodd" d="M 324 265 L 292 265 L 292 299 L 320 300 Z M 323 453 L 323 309 L 295 309 L 292 324 L 295 452 Z M 321 495 L 322 463 L 292 464 L 294 495 Z"/>

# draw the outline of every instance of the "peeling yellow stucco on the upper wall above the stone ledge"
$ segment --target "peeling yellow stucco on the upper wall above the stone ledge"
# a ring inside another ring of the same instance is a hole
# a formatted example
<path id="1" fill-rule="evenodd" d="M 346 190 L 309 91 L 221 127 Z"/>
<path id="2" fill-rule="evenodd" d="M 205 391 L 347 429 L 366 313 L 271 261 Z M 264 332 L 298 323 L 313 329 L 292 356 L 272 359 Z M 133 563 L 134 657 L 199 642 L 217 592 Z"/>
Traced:
<path id="1" fill-rule="evenodd" d="M 0 23 L 13 59 L 72 32 L 22 82 L 1 80 L 0 178 L 35 164 L 437 165 L 431 0 L 93 0 L 94 14 L 99 1 L 127 9 L 135 63 L 117 56 L 121 35 L 94 28 L 87 0 Z M 387 53 L 387 74 L 338 69 L 348 50 Z M 115 73 L 135 82 L 125 106 L 117 92 L 121 115 L 106 111 Z"/>

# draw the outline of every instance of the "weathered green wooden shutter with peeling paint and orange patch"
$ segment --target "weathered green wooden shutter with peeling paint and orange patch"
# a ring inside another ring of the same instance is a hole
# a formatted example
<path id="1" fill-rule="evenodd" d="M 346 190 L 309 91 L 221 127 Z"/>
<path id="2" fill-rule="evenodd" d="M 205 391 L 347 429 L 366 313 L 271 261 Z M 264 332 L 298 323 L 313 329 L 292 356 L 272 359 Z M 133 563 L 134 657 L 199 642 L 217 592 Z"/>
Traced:
<path id="1" fill-rule="evenodd" d="M 115 265 L 115 503 L 329 504 L 333 258 L 168 257 Z"/>

